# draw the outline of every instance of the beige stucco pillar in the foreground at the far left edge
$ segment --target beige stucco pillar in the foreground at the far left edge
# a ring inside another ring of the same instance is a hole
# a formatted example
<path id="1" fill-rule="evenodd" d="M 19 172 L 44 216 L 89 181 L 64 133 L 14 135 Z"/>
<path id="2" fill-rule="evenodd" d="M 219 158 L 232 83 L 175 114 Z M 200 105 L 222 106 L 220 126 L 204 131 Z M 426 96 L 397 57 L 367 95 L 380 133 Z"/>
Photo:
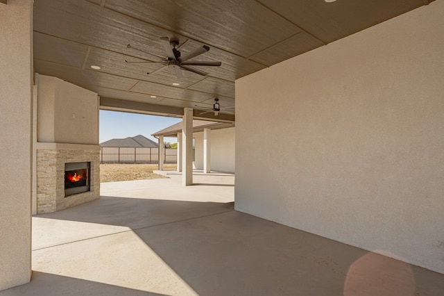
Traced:
<path id="1" fill-rule="evenodd" d="M 0 3 L 0 290 L 31 279 L 32 17 Z"/>

